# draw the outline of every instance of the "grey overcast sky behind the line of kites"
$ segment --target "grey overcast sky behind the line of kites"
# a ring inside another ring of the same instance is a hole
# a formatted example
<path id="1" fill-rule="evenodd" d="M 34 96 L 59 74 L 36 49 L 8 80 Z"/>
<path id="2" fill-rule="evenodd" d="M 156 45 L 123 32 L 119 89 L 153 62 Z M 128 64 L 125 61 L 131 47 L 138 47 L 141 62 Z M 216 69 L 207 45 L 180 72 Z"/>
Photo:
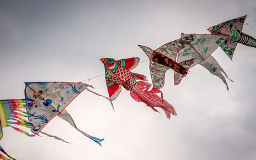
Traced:
<path id="1" fill-rule="evenodd" d="M 256 19 L 255 0 L 237 1 L 0 1 L 0 99 L 24 98 L 23 82 L 81 82 L 104 73 L 102 57 L 147 55 L 180 33 L 208 33 L 212 25 L 248 15 Z M 256 22 L 243 32 L 256 38 Z M 86 133 L 105 138 L 102 147 L 58 117 L 28 137 L 3 128 L 1 146 L 16 159 L 175 159 L 253 160 L 256 157 L 256 48 L 238 44 L 233 61 L 219 48 L 212 54 L 228 76 L 220 78 L 198 65 L 180 85 L 166 72 L 164 98 L 177 112 L 166 119 L 122 89 L 110 103 L 84 91 L 67 110 Z M 148 61 L 137 73 L 147 75 Z M 85 81 L 108 96 L 104 76 Z M 27 130 L 29 131 L 29 130 Z"/>

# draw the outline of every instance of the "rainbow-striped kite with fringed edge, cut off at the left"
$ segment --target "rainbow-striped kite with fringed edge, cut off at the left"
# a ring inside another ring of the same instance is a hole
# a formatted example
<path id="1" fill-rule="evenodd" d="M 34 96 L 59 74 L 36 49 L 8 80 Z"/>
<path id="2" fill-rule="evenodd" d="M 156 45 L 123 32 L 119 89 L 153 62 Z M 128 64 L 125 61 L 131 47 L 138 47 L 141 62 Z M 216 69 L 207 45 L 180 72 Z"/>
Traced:
<path id="1" fill-rule="evenodd" d="M 0 139 L 3 137 L 3 129 L 2 127 L 12 127 L 16 131 L 20 133 L 24 133 L 28 136 L 35 136 L 29 135 L 28 132 L 23 131 L 17 126 L 23 127 L 31 127 L 31 124 L 28 120 L 25 120 L 24 117 L 28 117 L 28 114 L 24 112 L 22 109 L 28 108 L 33 105 L 33 101 L 31 99 L 8 99 L 8 100 L 0 100 Z M 3 147 L 0 145 L 0 150 L 3 152 L 7 157 L 10 159 L 14 159 L 10 155 L 8 155 Z M 0 154 L 0 159 L 8 159 L 3 154 Z"/>

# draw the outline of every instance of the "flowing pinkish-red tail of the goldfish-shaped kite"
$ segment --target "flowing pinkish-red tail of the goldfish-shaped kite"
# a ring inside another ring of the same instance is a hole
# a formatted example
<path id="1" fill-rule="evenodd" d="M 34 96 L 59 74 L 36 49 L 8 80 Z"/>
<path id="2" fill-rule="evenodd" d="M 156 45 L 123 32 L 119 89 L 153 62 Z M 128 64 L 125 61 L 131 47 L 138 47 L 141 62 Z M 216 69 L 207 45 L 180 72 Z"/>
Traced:
<path id="1" fill-rule="evenodd" d="M 135 101 L 142 101 L 147 106 L 152 108 L 155 112 L 158 112 L 154 107 L 160 107 L 164 110 L 166 113 L 166 117 L 170 119 L 171 113 L 172 115 L 177 115 L 175 112 L 175 109 L 173 108 L 170 103 L 165 101 L 163 98 L 157 96 L 156 93 L 159 93 L 159 89 L 153 88 L 151 91 L 148 91 L 151 84 L 148 84 L 147 82 L 139 81 L 137 82 L 137 89 L 133 89 L 133 91 L 130 92 L 131 97 Z"/>

